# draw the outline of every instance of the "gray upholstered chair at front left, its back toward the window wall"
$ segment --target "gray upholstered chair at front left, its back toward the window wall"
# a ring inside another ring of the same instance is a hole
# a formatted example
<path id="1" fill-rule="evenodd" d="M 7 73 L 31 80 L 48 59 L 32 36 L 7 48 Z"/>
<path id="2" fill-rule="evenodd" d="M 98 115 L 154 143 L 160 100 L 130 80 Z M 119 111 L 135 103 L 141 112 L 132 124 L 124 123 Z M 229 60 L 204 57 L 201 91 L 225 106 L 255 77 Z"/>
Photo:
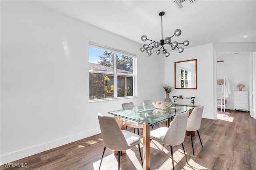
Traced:
<path id="1" fill-rule="evenodd" d="M 100 166 L 103 160 L 106 148 L 118 151 L 118 170 L 120 169 L 120 155 L 123 150 L 132 148 L 138 145 L 140 152 L 140 136 L 127 130 L 121 130 L 114 117 L 103 116 L 98 113 L 98 119 L 100 123 L 101 136 L 104 144 L 104 150 L 102 158 L 100 160 Z M 142 156 L 140 152 L 140 159 L 142 162 Z M 99 169 L 100 169 L 99 166 Z"/>

